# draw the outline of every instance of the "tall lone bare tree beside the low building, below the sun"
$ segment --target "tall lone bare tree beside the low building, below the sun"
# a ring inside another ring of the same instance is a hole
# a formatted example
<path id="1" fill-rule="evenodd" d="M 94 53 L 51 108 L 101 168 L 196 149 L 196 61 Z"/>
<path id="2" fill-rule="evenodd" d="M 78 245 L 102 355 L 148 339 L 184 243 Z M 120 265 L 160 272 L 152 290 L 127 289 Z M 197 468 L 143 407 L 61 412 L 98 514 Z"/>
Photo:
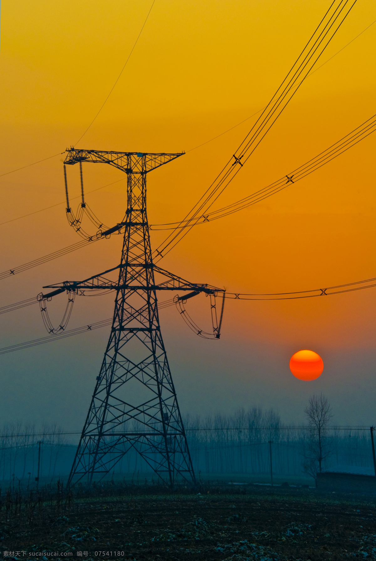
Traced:
<path id="1" fill-rule="evenodd" d="M 304 450 L 303 468 L 314 477 L 317 484 L 316 473 L 322 471 L 323 462 L 332 453 L 332 442 L 328 437 L 329 422 L 333 417 L 331 404 L 323 393 L 313 395 L 304 413 L 308 420 L 308 442 Z"/>

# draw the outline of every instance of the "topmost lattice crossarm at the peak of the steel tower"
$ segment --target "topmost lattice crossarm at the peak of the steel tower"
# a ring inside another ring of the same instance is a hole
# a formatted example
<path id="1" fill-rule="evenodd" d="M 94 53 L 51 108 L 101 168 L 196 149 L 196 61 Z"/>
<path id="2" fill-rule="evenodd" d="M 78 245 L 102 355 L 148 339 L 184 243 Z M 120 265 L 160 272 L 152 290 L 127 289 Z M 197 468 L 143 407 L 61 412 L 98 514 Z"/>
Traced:
<path id="1" fill-rule="evenodd" d="M 125 173 L 145 174 L 155 168 L 161 167 L 163 164 L 171 162 L 176 158 L 185 154 L 179 152 L 177 154 L 166 153 L 146 153 L 146 152 L 114 152 L 106 150 L 79 150 L 76 148 L 68 148 L 67 155 L 64 160 L 66 165 L 74 165 L 79 162 L 91 162 L 96 164 L 110 164 L 121 169 Z"/>

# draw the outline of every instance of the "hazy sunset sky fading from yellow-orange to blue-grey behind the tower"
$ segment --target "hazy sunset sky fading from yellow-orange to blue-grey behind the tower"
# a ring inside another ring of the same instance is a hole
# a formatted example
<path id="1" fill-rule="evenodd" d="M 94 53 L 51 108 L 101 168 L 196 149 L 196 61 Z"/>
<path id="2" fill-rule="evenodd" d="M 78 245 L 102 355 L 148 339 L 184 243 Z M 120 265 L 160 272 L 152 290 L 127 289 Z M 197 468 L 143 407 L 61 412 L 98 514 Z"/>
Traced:
<path id="1" fill-rule="evenodd" d="M 75 145 L 186 155 L 148 176 L 149 222 L 177 220 L 199 199 L 249 131 L 329 7 L 327 0 L 156 0 L 116 88 L 151 0 L 3 0 L 0 44 L 0 174 Z M 327 61 L 376 20 L 358 0 L 325 50 Z M 314 157 L 375 113 L 376 24 L 313 73 L 218 200 L 231 203 Z M 319 64 L 320 64 L 319 63 Z M 318 64 L 318 66 L 319 66 Z M 376 276 L 376 136 L 258 205 L 198 226 L 163 260 L 192 282 L 231 292 L 283 292 Z M 63 204 L 63 155 L 0 177 L 1 263 L 6 270 L 79 241 Z M 84 167 L 87 190 L 121 178 Z M 72 195 L 78 170 L 69 169 Z M 103 222 L 125 211 L 126 182 L 88 195 Z M 6 222 L 6 223 L 4 223 Z M 155 246 L 163 233 L 153 233 Z M 44 284 L 99 273 L 119 260 L 111 237 L 2 281 L 0 305 Z M 77 298 L 70 328 L 108 318 L 113 298 Z M 50 304 L 59 321 L 65 298 Z M 188 307 L 188 305 L 187 305 Z M 375 424 L 376 289 L 286 302 L 226 301 L 220 341 L 161 312 L 182 413 L 260 404 L 301 422 L 323 391 L 337 424 Z M 190 309 L 209 320 L 208 300 Z M 1 346 L 43 337 L 37 307 L 2 315 Z M 0 422 L 58 422 L 80 429 L 108 338 L 90 335 L 0 356 Z M 290 357 L 318 352 L 318 380 L 295 379 Z"/>

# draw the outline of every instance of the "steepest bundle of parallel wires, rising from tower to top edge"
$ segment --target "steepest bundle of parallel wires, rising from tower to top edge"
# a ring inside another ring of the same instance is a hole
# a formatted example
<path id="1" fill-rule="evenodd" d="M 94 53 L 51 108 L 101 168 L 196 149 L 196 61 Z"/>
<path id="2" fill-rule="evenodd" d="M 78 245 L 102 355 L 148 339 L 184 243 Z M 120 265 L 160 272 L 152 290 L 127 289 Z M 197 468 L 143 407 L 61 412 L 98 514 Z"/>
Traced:
<path id="1" fill-rule="evenodd" d="M 157 260 L 162 259 L 164 255 L 171 251 L 173 247 L 186 236 L 195 225 L 198 215 L 205 214 L 219 195 L 222 194 L 224 189 L 226 189 L 230 182 L 236 177 L 237 173 L 239 173 L 245 162 L 250 158 L 251 154 L 253 154 L 254 150 L 273 126 L 274 122 L 276 122 L 283 109 L 285 109 L 296 91 L 300 88 L 302 82 L 308 76 L 334 35 L 336 35 L 338 29 L 340 29 L 343 21 L 345 21 L 352 7 L 354 7 L 356 0 L 351 0 L 351 2 L 350 0 L 333 0 L 331 6 L 315 29 L 313 35 L 311 35 L 311 38 L 299 57 L 296 59 L 291 70 L 287 73 L 282 84 L 279 86 L 260 117 L 256 120 L 253 127 L 251 127 L 251 130 L 241 142 L 239 148 L 237 148 L 233 156 L 222 168 L 222 171 L 204 192 L 203 196 L 201 196 L 198 203 L 194 205 L 182 220 L 182 223 L 185 223 L 184 228 L 178 226 L 176 231 L 169 234 L 169 236 L 159 244 L 154 252 L 155 256 L 158 256 Z M 242 158 L 244 158 L 244 160 L 242 160 Z"/>

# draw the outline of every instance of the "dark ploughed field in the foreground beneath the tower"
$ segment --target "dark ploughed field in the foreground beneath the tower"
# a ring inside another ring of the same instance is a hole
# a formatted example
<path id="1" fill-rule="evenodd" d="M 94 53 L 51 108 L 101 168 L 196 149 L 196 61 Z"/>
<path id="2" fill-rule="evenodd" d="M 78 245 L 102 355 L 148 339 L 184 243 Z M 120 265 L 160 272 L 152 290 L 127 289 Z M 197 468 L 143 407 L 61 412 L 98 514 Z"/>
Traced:
<path id="1" fill-rule="evenodd" d="M 1 550 L 21 559 L 43 551 L 136 561 L 376 559 L 374 498 L 257 486 L 150 491 L 3 495 Z"/>

